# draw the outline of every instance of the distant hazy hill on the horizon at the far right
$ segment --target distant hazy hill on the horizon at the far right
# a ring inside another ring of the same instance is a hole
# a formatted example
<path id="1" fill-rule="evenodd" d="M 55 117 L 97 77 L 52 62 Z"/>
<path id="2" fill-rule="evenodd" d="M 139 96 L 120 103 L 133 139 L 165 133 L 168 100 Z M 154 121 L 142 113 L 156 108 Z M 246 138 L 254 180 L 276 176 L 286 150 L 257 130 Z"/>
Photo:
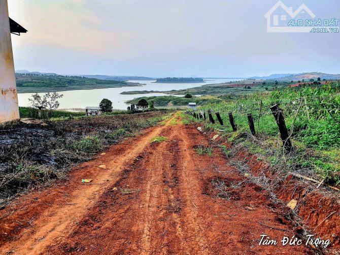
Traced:
<path id="1" fill-rule="evenodd" d="M 255 76 L 251 77 L 251 79 L 256 79 L 256 80 L 279 80 L 279 81 L 298 81 L 298 80 L 309 80 L 309 79 L 339 79 L 340 74 L 325 74 L 325 73 L 320 73 L 320 72 L 312 72 L 312 73 L 300 73 L 300 74 L 273 74 L 269 76 Z"/>

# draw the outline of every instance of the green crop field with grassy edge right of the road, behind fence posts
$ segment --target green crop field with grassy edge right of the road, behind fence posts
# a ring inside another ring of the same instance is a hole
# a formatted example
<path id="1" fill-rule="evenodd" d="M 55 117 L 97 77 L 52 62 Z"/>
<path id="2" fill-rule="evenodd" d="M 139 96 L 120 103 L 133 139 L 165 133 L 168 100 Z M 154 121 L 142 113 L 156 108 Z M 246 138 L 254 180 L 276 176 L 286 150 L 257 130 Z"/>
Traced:
<path id="1" fill-rule="evenodd" d="M 205 104 L 201 111 L 219 111 L 225 126 L 206 122 L 207 127 L 224 130 L 230 143 L 243 144 L 259 154 L 273 166 L 288 166 L 291 171 L 322 180 L 330 185 L 340 184 L 340 84 L 275 90 L 270 93 L 244 95 L 240 99 Z M 280 104 L 294 147 L 290 155 L 282 149 L 278 126 L 269 107 Z M 198 112 L 198 111 L 197 111 Z M 232 132 L 228 113 L 232 112 L 237 131 Z M 256 139 L 249 135 L 247 114 L 251 113 L 257 132 Z M 193 118 L 190 116 L 193 120 Z M 246 136 L 244 134 L 247 134 Z M 283 161 L 285 164 L 283 164 Z M 315 176 L 313 176 L 315 175 Z"/>

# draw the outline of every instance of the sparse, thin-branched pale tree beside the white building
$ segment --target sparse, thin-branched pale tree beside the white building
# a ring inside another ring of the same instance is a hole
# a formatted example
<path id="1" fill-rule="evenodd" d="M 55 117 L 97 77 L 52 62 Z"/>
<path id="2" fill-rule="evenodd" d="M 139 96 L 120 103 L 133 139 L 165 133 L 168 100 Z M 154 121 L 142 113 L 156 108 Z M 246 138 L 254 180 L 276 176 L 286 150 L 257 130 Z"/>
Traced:
<path id="1" fill-rule="evenodd" d="M 58 94 L 57 92 L 53 93 L 46 93 L 43 96 L 41 96 L 38 93 L 32 94 L 32 99 L 28 99 L 30 104 L 38 108 L 38 116 L 39 118 L 44 117 L 42 115 L 42 112 L 44 109 L 47 109 L 46 117 L 49 118 L 49 112 L 51 110 L 56 110 L 59 108 L 59 102 L 57 101 L 59 98 L 62 98 L 62 94 Z"/>

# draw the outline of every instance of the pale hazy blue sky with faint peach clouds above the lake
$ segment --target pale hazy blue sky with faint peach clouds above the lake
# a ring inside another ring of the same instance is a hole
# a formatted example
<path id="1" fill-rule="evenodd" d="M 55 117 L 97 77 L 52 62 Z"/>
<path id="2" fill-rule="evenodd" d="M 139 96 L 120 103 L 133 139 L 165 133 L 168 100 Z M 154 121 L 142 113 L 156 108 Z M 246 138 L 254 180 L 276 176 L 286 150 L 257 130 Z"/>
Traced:
<path id="1" fill-rule="evenodd" d="M 338 0 L 282 0 L 340 19 Z M 148 77 L 340 73 L 340 33 L 267 33 L 277 0 L 8 0 L 16 70 Z"/>

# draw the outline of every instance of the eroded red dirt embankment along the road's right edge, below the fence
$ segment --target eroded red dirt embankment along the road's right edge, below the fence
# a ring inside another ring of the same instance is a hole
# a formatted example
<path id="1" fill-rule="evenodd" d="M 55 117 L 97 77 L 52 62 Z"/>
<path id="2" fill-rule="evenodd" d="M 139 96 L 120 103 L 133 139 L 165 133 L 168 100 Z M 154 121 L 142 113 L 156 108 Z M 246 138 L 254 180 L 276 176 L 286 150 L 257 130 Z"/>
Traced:
<path id="1" fill-rule="evenodd" d="M 209 134 L 209 137 L 213 138 L 215 135 L 216 133 L 212 132 Z M 231 144 L 220 138 L 215 140 L 215 144 L 224 144 L 229 148 L 232 147 Z M 257 179 L 265 176 L 266 181 L 262 180 L 264 185 L 268 185 L 268 183 L 270 185 L 271 179 L 282 179 L 280 173 L 272 171 L 268 163 L 261 161 L 256 155 L 246 150 L 237 150 L 232 156 L 232 161 L 241 163 L 241 167 L 245 167 L 247 172 Z M 327 187 L 323 188 L 318 184 L 303 178 L 296 178 L 290 174 L 287 178 L 282 179 L 279 185 L 270 188 L 274 189 L 274 195 L 285 204 L 292 200 L 296 201 L 296 207 L 292 212 L 292 219 L 299 220 L 299 225 L 305 231 L 309 231 L 323 240 L 329 239 L 331 242 L 329 248 L 339 250 L 339 194 L 337 191 L 328 190 Z M 301 234 L 303 229 L 298 227 L 296 231 Z"/>

